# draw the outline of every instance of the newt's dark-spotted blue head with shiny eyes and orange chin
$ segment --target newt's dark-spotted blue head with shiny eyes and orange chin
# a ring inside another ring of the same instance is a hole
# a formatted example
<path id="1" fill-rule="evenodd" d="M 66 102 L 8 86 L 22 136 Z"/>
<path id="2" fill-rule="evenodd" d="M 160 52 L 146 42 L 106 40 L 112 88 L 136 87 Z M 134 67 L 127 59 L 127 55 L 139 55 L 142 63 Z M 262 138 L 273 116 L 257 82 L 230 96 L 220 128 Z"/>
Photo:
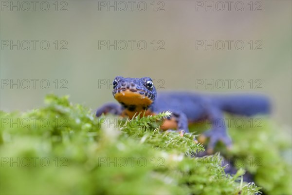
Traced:
<path id="1" fill-rule="evenodd" d="M 156 98 L 156 89 L 149 77 L 116 77 L 112 84 L 113 97 L 125 108 L 125 114 L 129 117 L 147 110 Z"/>

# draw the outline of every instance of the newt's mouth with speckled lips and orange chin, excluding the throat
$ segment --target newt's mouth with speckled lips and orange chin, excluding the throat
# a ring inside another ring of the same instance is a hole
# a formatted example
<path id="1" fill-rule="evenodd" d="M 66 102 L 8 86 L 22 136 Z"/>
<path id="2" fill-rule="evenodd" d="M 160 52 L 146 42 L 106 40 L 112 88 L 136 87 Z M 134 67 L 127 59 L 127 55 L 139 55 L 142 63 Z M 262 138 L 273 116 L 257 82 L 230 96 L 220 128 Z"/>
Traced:
<path id="1" fill-rule="evenodd" d="M 134 88 L 114 89 L 112 94 L 118 102 L 125 105 L 141 105 L 147 107 L 152 104 L 152 98 L 154 98 L 152 94 Z"/>

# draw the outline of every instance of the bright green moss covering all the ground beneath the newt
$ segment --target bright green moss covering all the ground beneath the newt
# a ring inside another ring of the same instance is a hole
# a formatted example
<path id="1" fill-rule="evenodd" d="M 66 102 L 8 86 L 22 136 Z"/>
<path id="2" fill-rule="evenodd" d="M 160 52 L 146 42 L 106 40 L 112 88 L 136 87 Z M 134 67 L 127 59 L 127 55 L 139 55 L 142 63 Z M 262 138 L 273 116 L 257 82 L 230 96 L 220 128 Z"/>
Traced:
<path id="1" fill-rule="evenodd" d="M 243 159 L 254 184 L 242 182 L 239 167 L 226 175 L 219 154 L 192 157 L 204 150 L 193 141 L 204 126 L 180 137 L 155 127 L 167 112 L 97 119 L 68 97 L 49 95 L 45 101 L 46 107 L 26 113 L 0 113 L 1 194 L 253 195 L 260 187 L 271 195 L 292 193 L 291 162 L 281 156 L 291 142 L 269 119 L 258 129 L 231 126 L 232 150 L 217 148 L 225 157 Z"/>

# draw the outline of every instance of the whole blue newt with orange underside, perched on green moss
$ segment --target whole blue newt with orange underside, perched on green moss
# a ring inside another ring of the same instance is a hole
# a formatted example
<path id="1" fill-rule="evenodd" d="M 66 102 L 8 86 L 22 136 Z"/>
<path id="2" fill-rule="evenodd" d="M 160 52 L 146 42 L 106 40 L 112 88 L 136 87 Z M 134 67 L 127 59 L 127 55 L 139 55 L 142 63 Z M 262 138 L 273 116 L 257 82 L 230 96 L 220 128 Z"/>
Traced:
<path id="1" fill-rule="evenodd" d="M 218 122 L 218 119 L 224 118 L 224 112 L 247 117 L 270 112 L 269 99 L 260 95 L 204 95 L 191 92 L 164 92 L 157 95 L 153 81 L 148 77 L 116 77 L 112 84 L 112 94 L 120 104 L 103 105 L 97 110 L 96 117 L 111 113 L 132 118 L 144 111 L 146 116 L 170 111 L 172 116 L 164 121 L 162 127 L 164 130 L 177 129 L 181 136 L 189 132 L 189 123 L 210 120 L 212 129 L 201 136 L 201 140 L 203 137 L 210 138 L 209 153 L 218 141 L 227 147 L 232 144 L 226 126 Z"/>

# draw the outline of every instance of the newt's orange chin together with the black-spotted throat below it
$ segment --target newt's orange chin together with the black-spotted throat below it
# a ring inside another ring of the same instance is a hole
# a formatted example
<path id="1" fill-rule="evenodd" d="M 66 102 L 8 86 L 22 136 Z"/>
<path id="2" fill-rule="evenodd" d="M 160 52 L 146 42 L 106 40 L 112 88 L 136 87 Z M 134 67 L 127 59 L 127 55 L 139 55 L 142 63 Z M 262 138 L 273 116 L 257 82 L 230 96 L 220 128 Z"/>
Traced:
<path id="1" fill-rule="evenodd" d="M 121 91 L 116 93 L 114 98 L 125 108 L 122 114 L 123 116 L 132 118 L 136 113 L 137 114 L 135 116 L 137 116 L 139 113 L 143 116 L 145 111 L 145 116 L 152 115 L 152 113 L 147 108 L 152 104 L 153 101 L 150 98 L 141 95 L 138 91 Z"/>

